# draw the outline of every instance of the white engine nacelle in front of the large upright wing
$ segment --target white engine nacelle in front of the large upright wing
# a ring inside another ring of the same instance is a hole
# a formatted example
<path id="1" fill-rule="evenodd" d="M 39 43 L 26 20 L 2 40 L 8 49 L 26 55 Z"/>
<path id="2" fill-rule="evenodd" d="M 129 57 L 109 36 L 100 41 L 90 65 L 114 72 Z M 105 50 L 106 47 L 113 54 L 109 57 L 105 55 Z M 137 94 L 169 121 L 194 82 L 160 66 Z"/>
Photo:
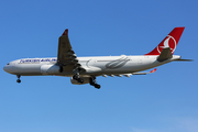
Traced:
<path id="1" fill-rule="evenodd" d="M 63 68 L 57 65 L 42 65 L 40 68 L 42 74 L 58 74 L 62 73 Z"/>

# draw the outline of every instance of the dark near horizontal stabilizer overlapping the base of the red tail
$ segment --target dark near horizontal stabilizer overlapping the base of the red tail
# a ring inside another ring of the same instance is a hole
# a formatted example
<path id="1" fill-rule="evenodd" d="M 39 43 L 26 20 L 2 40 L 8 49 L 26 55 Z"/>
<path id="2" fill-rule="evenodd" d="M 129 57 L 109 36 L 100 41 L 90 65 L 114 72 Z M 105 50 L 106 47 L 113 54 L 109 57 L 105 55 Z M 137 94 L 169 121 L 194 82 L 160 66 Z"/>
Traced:
<path id="1" fill-rule="evenodd" d="M 166 61 L 166 59 L 172 58 L 172 57 L 173 57 L 173 55 L 172 55 L 170 48 L 169 48 L 169 47 L 166 47 L 166 48 L 163 48 L 163 50 L 162 50 L 162 52 L 161 52 L 157 61 L 158 61 L 158 62 L 163 62 L 163 61 Z"/>

